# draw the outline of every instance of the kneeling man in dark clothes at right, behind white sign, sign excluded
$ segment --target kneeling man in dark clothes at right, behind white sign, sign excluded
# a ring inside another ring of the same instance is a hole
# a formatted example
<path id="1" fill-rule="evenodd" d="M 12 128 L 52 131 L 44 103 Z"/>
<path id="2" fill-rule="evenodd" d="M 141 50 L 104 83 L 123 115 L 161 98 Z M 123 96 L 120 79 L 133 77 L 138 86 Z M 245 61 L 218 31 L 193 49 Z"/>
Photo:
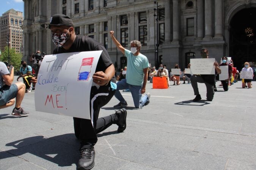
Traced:
<path id="1" fill-rule="evenodd" d="M 209 59 L 209 52 L 207 48 L 202 48 L 201 49 L 201 57 L 203 59 Z M 190 60 L 190 63 L 191 60 Z M 217 74 L 221 73 L 221 69 L 219 67 L 218 62 L 215 60 L 215 62 L 213 63 L 214 67 L 215 67 L 215 71 L 217 72 Z M 191 67 L 193 65 L 191 64 Z M 192 69 L 191 69 L 192 70 Z M 193 73 L 193 71 L 192 71 Z M 201 100 L 201 95 L 199 94 L 198 91 L 198 85 L 197 83 L 204 83 L 206 85 L 206 97 L 208 101 L 212 101 L 212 99 L 214 98 L 214 85 L 216 83 L 216 77 L 215 74 L 194 74 L 193 76 L 191 76 L 190 78 L 190 82 L 191 85 L 193 87 L 194 90 L 194 94 L 196 95 L 195 99 L 193 99 L 194 102 L 198 102 L 199 100 Z"/>

